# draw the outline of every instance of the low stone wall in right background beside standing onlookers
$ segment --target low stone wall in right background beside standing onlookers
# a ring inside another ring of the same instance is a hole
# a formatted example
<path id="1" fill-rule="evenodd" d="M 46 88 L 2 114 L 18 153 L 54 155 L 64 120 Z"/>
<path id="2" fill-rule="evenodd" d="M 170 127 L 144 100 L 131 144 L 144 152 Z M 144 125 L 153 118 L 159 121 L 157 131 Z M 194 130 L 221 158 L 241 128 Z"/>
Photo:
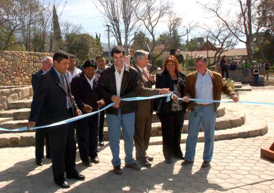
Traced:
<path id="1" fill-rule="evenodd" d="M 249 70 L 249 75 L 245 76 L 243 70 L 237 70 L 237 71 L 228 71 L 229 78 L 234 80 L 235 82 L 242 82 L 243 84 L 250 84 L 254 85 L 254 78 L 251 73 L 251 70 Z M 225 73 L 226 77 L 226 73 Z M 259 86 L 265 86 L 265 76 L 259 75 Z"/>

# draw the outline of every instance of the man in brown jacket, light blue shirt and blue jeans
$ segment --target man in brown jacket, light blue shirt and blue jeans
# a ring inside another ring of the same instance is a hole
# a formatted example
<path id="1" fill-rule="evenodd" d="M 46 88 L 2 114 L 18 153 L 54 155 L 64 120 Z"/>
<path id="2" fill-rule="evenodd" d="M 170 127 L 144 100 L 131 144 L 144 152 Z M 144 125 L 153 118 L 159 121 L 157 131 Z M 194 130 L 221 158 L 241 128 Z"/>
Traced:
<path id="1" fill-rule="evenodd" d="M 186 76 L 186 88 L 183 97 L 184 102 L 189 102 L 188 109 L 191 112 L 189 115 L 185 160 L 182 165 L 194 162 L 199 129 L 202 123 L 205 132 L 204 162 L 202 168 L 206 168 L 210 166 L 213 155 L 216 110 L 220 103 L 193 102 L 189 101 L 189 98 L 221 100 L 221 92 L 230 96 L 234 102 L 237 102 L 239 98 L 234 90 L 223 82 L 220 73 L 207 69 L 208 60 L 205 56 L 197 56 L 195 63 L 197 71 L 189 73 Z"/>

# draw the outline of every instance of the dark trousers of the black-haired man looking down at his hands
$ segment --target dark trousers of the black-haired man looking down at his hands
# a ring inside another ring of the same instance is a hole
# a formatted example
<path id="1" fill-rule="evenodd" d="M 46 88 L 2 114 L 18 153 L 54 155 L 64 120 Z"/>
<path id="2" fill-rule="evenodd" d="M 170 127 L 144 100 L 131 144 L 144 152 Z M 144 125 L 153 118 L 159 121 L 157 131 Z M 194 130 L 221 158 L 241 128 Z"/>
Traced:
<path id="1" fill-rule="evenodd" d="M 98 155 L 98 114 L 77 121 L 76 134 L 80 158 L 83 162 Z"/>

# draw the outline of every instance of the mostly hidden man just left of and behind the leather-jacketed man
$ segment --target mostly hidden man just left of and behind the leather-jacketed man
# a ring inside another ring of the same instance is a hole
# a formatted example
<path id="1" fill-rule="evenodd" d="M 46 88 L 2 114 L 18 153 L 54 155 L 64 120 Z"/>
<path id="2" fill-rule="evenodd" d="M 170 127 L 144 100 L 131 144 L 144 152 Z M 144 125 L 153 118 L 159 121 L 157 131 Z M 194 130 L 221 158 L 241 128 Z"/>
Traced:
<path id="1" fill-rule="evenodd" d="M 97 65 L 97 71 L 96 73 L 101 75 L 101 72 L 105 70 L 106 68 L 109 68 L 109 66 L 106 66 L 106 59 L 104 56 L 97 56 L 96 57 L 96 65 Z M 104 146 L 104 121 L 105 121 L 105 111 L 100 112 L 100 118 L 99 118 L 99 146 Z"/>

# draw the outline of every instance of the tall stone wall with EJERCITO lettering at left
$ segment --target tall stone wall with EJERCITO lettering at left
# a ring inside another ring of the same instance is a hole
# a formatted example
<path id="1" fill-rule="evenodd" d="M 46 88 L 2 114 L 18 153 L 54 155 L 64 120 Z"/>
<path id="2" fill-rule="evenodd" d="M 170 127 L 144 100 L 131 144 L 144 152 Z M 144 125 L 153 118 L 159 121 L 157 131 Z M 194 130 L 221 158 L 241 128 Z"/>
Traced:
<path id="1" fill-rule="evenodd" d="M 31 74 L 41 69 L 41 60 L 53 53 L 0 51 L 0 86 L 31 85 Z"/>

